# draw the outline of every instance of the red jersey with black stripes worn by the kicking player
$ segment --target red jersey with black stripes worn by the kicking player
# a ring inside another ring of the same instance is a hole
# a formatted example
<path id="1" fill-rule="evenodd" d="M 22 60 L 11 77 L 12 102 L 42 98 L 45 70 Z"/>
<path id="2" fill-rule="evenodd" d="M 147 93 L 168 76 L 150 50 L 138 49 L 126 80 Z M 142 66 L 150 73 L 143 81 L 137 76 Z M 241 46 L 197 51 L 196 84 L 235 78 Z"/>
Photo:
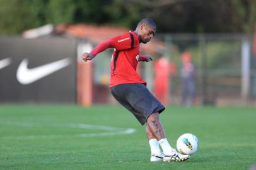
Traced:
<path id="1" fill-rule="evenodd" d="M 94 56 L 107 48 L 115 48 L 111 60 L 110 88 L 118 84 L 146 82 L 137 74 L 139 60 L 139 38 L 134 31 L 130 31 L 110 38 L 95 47 L 91 54 Z"/>

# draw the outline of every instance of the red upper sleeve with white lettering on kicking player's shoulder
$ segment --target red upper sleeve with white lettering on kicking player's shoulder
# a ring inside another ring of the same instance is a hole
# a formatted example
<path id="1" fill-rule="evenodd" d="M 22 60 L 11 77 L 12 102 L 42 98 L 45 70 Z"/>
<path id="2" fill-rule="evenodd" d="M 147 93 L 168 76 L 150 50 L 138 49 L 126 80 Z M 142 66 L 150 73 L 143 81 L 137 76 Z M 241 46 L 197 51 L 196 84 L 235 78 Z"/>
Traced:
<path id="1" fill-rule="evenodd" d="M 112 38 L 113 46 L 116 50 L 127 50 L 135 47 L 134 35 L 132 33 L 124 33 Z"/>

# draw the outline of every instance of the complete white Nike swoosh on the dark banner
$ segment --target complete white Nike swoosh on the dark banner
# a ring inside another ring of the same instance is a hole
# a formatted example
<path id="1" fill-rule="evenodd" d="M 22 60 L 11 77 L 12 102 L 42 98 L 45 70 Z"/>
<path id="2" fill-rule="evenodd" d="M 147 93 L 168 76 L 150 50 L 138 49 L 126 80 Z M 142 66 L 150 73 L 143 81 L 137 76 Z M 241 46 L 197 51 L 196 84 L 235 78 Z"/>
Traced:
<path id="1" fill-rule="evenodd" d="M 18 67 L 16 77 L 21 84 L 31 84 L 53 72 L 59 71 L 69 64 L 71 64 L 71 60 L 66 58 L 33 69 L 28 69 L 28 59 L 24 59 Z"/>

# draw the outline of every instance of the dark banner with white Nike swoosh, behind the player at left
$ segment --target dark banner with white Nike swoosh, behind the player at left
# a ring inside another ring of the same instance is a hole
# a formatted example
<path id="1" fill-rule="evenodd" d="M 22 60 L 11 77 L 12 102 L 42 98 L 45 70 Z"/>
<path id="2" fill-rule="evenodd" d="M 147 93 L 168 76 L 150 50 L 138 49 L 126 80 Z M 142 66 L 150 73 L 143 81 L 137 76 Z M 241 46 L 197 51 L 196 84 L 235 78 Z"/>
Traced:
<path id="1" fill-rule="evenodd" d="M 76 103 L 76 40 L 1 37 L 0 101 Z"/>

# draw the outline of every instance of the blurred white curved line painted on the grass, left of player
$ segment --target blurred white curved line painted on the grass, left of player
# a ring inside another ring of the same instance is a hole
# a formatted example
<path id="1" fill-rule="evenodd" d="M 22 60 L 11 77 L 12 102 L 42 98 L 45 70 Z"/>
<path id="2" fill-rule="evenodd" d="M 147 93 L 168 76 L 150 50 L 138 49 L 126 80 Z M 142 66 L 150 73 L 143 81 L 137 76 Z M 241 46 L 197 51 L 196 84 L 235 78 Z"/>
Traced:
<path id="1" fill-rule="evenodd" d="M 2 136 L 0 138 L 4 139 L 34 139 L 34 138 L 54 138 L 54 137 L 103 137 L 103 136 L 114 136 L 114 135 L 129 135 L 136 132 L 134 128 L 117 128 L 117 127 L 108 127 L 104 125 L 90 125 L 84 123 L 69 123 L 69 124 L 58 124 L 58 125 L 40 125 L 30 122 L 1 122 L 1 125 L 7 125 L 10 127 L 23 127 L 23 128 L 83 128 L 90 130 L 103 130 L 107 132 L 99 133 L 76 133 L 76 134 L 50 134 L 50 135 L 15 135 L 15 136 Z"/>

